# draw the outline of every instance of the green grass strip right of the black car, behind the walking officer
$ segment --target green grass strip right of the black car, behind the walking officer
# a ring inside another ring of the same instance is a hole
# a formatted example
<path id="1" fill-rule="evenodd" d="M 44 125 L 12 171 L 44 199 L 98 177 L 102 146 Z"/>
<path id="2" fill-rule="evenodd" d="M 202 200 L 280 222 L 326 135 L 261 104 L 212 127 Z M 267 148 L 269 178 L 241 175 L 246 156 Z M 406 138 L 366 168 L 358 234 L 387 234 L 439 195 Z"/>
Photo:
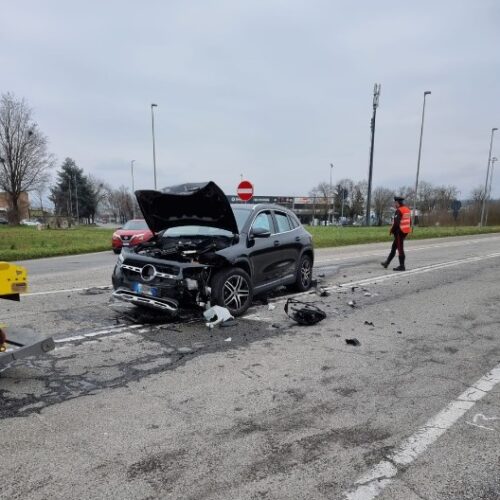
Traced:
<path id="1" fill-rule="evenodd" d="M 359 245 L 362 243 L 377 243 L 390 241 L 389 226 L 382 227 L 336 227 L 336 226 L 306 226 L 313 235 L 315 248 Z M 479 228 L 476 226 L 457 227 L 416 227 L 407 240 L 424 238 L 444 238 L 446 236 L 465 236 L 468 234 L 498 233 L 500 226 Z"/>

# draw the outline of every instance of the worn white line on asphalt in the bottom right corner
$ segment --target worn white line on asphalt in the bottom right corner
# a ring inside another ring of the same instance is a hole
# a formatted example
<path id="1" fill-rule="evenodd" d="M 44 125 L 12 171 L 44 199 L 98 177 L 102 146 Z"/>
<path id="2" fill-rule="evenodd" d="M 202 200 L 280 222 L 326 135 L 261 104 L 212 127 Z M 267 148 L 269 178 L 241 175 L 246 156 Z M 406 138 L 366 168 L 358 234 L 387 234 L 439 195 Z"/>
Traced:
<path id="1" fill-rule="evenodd" d="M 345 493 L 348 500 L 372 500 L 392 483 L 399 467 L 405 467 L 417 459 L 431 444 L 442 436 L 455 422 L 470 410 L 480 399 L 500 382 L 500 365 L 497 365 L 474 385 L 460 394 L 444 410 L 430 418 L 427 423 L 403 441 L 399 448 L 382 460 L 355 484 L 355 490 Z"/>

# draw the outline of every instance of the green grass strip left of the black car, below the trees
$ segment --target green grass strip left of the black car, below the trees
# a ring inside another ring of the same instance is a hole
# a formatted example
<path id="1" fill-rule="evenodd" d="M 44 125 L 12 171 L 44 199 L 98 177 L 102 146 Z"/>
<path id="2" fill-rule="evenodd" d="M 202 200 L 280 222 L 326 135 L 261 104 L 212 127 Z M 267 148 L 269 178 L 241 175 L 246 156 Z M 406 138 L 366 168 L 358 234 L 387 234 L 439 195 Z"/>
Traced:
<path id="1" fill-rule="evenodd" d="M 0 261 L 17 261 L 111 251 L 113 229 L 78 227 L 44 229 L 36 227 L 0 227 Z"/>

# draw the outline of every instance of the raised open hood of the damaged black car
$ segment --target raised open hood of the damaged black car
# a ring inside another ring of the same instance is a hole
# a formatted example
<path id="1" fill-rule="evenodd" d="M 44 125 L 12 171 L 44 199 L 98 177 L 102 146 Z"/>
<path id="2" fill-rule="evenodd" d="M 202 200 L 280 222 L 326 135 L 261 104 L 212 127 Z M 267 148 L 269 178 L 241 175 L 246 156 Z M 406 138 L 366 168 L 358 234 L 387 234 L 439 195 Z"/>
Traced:
<path id="1" fill-rule="evenodd" d="M 180 184 L 161 191 L 140 190 L 135 196 L 154 233 L 178 226 L 208 226 L 238 234 L 231 205 L 215 182 Z"/>

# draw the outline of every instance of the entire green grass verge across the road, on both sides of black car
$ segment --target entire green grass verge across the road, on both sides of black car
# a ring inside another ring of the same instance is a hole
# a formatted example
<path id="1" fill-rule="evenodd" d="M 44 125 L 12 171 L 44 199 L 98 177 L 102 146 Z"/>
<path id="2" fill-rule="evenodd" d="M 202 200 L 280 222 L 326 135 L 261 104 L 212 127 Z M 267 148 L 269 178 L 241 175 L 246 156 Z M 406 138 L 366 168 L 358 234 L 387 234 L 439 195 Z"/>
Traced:
<path id="1" fill-rule="evenodd" d="M 316 248 L 358 245 L 390 241 L 389 226 L 382 227 L 311 227 Z M 498 233 L 500 226 L 417 227 L 408 239 L 442 238 L 468 234 Z M 113 229 L 78 227 L 72 229 L 44 229 L 33 227 L 0 226 L 0 261 L 17 261 L 74 255 L 79 253 L 111 252 Z"/>

